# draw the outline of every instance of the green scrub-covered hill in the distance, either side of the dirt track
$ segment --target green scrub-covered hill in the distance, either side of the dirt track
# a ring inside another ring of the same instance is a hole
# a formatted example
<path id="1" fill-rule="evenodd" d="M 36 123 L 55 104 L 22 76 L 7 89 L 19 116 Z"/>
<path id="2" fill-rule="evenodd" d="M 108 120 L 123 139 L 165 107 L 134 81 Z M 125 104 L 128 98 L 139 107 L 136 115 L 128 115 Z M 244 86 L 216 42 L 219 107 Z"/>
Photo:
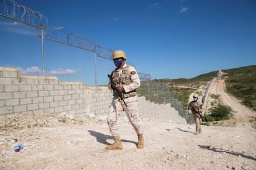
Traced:
<path id="1" fill-rule="evenodd" d="M 256 110 L 256 65 L 221 71 L 226 73 L 224 78 L 226 79 L 228 92 L 240 99 L 247 107 Z M 144 95 L 146 99 L 148 95 L 153 96 L 150 97 L 151 102 L 161 103 L 161 101 L 164 102 L 165 100 L 156 101 L 156 96 L 158 96 L 156 93 L 161 92 L 161 89 L 158 89 L 159 86 L 164 89 L 163 87 L 167 85 L 169 87 L 168 90 L 176 92 L 177 99 L 183 105 L 186 105 L 189 100 L 189 94 L 202 85 L 207 86 L 211 79 L 218 76 L 218 72 L 219 70 L 211 71 L 190 79 L 158 79 L 157 82 L 155 80 L 142 81 L 138 92 L 139 95 Z M 148 87 L 148 83 L 151 89 Z"/>

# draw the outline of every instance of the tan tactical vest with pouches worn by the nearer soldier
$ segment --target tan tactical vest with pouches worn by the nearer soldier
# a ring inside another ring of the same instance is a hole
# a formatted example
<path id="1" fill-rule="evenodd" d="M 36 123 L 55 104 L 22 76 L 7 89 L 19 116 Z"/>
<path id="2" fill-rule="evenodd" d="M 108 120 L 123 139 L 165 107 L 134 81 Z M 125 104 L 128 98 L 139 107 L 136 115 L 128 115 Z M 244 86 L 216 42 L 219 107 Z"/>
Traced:
<path id="1" fill-rule="evenodd" d="M 111 75 L 113 77 L 113 81 L 117 82 L 117 84 L 121 87 L 132 83 L 132 81 L 130 79 L 129 65 L 127 65 L 127 67 L 125 67 L 125 68 L 122 68 L 120 76 L 119 76 L 119 71 L 117 71 L 117 69 L 114 70 Z M 119 97 L 119 95 L 115 91 L 114 91 L 113 95 L 114 95 L 114 97 Z M 122 97 L 127 98 L 127 97 L 131 97 L 131 96 L 135 96 L 135 95 L 137 95 L 136 89 L 122 94 Z"/>

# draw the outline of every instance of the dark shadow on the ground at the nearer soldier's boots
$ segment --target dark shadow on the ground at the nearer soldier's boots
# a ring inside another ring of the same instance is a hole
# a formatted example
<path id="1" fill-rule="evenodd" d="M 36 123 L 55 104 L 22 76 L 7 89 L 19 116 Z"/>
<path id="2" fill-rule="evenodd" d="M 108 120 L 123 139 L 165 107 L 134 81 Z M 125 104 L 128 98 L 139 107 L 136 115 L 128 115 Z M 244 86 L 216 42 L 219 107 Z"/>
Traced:
<path id="1" fill-rule="evenodd" d="M 106 134 L 102 134 L 101 132 L 96 132 L 96 131 L 92 131 L 89 130 L 88 131 L 90 133 L 90 135 L 96 137 L 97 142 L 100 142 L 101 144 L 105 144 L 105 145 L 111 145 L 109 142 L 107 142 L 106 140 L 108 139 L 114 139 L 113 136 L 109 136 Z M 130 142 L 132 144 L 137 145 L 137 142 L 131 141 L 131 140 L 126 140 L 126 139 L 121 139 L 121 142 Z"/>

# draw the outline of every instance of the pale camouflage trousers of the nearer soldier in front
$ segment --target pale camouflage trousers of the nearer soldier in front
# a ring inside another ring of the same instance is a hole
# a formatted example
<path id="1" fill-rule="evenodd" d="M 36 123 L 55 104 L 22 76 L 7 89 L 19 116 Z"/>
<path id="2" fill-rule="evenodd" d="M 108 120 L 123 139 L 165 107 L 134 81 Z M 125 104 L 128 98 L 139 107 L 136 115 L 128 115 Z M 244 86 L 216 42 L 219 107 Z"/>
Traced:
<path id="1" fill-rule="evenodd" d="M 130 124 L 134 127 L 137 134 L 142 134 L 142 128 L 139 121 L 139 105 L 138 105 L 138 96 L 127 97 L 124 99 L 127 104 L 124 105 L 121 99 L 113 98 L 111 105 L 109 106 L 108 112 L 108 127 L 112 136 L 119 136 L 117 119 L 124 111 L 126 116 L 130 121 Z"/>

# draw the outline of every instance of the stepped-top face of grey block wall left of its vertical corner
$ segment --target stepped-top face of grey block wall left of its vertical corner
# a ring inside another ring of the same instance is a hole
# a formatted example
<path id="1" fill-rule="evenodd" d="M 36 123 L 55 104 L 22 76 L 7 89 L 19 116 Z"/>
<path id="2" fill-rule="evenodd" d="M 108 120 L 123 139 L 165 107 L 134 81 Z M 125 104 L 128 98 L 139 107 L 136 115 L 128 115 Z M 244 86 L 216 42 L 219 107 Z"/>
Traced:
<path id="1" fill-rule="evenodd" d="M 86 114 L 87 86 L 56 77 L 23 76 L 0 67 L 0 115 L 9 113 Z"/>

